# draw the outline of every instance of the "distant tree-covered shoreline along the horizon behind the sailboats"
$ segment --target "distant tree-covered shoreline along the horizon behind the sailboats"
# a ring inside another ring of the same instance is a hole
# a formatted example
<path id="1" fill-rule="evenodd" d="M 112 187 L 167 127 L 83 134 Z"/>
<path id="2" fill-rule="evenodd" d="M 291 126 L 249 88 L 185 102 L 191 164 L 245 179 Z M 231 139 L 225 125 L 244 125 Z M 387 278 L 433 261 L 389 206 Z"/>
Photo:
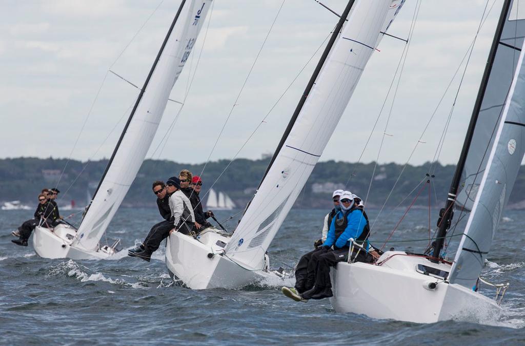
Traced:
<path id="1" fill-rule="evenodd" d="M 20 200 L 36 205 L 36 196 L 44 187 L 56 187 L 61 191 L 59 204 L 68 205 L 74 200 L 79 207 L 85 206 L 98 185 L 108 160 L 81 162 L 55 158 L 6 158 L 0 159 L 0 201 Z M 236 205 L 243 208 L 253 196 L 269 163 L 269 158 L 259 160 L 236 159 L 208 162 L 202 174 L 203 193 L 214 184 L 216 191 L 226 192 Z M 228 167 L 229 165 L 229 167 Z M 154 180 L 166 180 L 177 175 L 181 169 L 190 169 L 195 175 L 203 170 L 204 164 L 184 164 L 169 160 L 145 160 L 133 182 L 123 206 L 154 207 L 155 196 L 151 193 Z M 226 169 L 227 168 L 227 169 Z M 430 179 L 430 205 L 442 207 L 454 166 L 432 167 L 403 166 L 397 164 L 377 165 L 353 164 L 350 162 L 324 161 L 314 168 L 306 186 L 295 204 L 296 208 L 328 208 L 334 189 L 349 189 L 354 194 L 366 197 L 368 206 L 388 207 L 409 205 L 415 201 L 417 206 L 428 206 L 428 187 L 423 187 Z M 427 176 L 427 174 L 433 174 Z M 419 185 L 423 181 L 423 184 Z M 58 185 L 57 185 L 58 184 Z M 510 196 L 510 207 L 525 207 L 525 172 L 522 170 Z M 390 196 L 390 197 L 388 197 Z M 388 197 L 388 199 L 387 199 Z M 206 198 L 204 198 L 206 200 Z"/>

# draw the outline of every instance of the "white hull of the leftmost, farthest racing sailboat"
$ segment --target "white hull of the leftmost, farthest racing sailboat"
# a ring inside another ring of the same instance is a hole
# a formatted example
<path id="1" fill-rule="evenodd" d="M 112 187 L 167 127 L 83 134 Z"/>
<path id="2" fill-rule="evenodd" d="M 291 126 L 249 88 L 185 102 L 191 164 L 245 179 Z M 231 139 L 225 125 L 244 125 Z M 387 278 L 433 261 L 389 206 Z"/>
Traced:
<path id="1" fill-rule="evenodd" d="M 37 255 L 44 258 L 104 259 L 113 255 L 114 251 L 109 247 L 90 251 L 72 246 L 76 234 L 74 228 L 64 224 L 58 225 L 53 231 L 37 226 L 33 235 L 33 247 Z"/>

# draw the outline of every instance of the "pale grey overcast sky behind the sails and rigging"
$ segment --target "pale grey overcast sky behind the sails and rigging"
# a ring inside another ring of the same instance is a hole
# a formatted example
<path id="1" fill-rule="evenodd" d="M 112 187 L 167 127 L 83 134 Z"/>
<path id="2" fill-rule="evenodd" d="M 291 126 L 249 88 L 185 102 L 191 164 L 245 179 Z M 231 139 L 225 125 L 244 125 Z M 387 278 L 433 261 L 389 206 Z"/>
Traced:
<path id="1" fill-rule="evenodd" d="M 344 0 L 322 2 L 338 13 L 346 3 Z M 138 90 L 114 75 L 107 75 L 105 80 L 104 76 L 111 67 L 134 84 L 142 85 L 179 3 L 179 0 L 1 1 L 3 145 L 0 157 L 71 155 L 81 160 L 109 157 Z M 282 0 L 216 0 L 214 3 L 213 12 L 208 13 L 207 20 L 211 22 L 206 40 L 207 21 L 171 94 L 176 100 L 184 98 L 196 68 L 175 130 L 163 146 L 161 139 L 181 107 L 170 102 L 148 158 L 192 163 L 207 159 Z M 459 156 L 501 3 L 501 0 L 488 1 L 492 11 L 477 38 L 467 68 L 447 142 L 439 157 L 442 163 L 455 163 Z M 389 33 L 407 37 L 415 4 L 415 0 L 406 1 Z M 379 153 L 380 162 L 404 163 L 408 159 L 474 39 L 486 4 L 481 0 L 423 0 L 388 121 L 388 136 Z M 313 0 L 285 0 L 212 160 L 232 158 L 236 154 L 330 34 L 337 20 Z M 404 46 L 404 42 L 394 38 L 382 40 L 377 47 L 380 51 L 373 54 L 366 66 L 321 160 L 355 162 L 359 159 Z M 201 49 L 202 58 L 197 66 Z M 261 154 L 274 151 L 319 53 L 239 157 L 260 158 Z M 434 157 L 457 81 L 458 78 L 438 108 L 411 164 L 418 165 Z M 101 85 L 100 95 L 79 137 Z M 387 105 L 388 110 L 390 103 Z M 387 113 L 381 116 L 362 162 L 378 157 Z M 71 154 L 77 138 L 78 144 Z M 358 146 L 349 149 L 350 139 Z"/>

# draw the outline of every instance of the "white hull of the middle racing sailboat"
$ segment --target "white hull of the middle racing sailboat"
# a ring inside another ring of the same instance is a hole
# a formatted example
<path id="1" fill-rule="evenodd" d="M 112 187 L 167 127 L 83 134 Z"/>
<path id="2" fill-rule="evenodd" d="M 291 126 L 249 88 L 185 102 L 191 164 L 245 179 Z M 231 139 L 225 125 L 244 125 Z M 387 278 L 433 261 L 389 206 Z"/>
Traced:
<path id="1" fill-rule="evenodd" d="M 172 233 L 167 241 L 166 266 L 174 281 L 178 279 L 188 288 L 202 290 L 242 288 L 267 277 L 277 278 L 274 273 L 249 270 L 223 256 L 229 240 L 216 229 L 206 229 L 198 239 Z M 224 245 L 218 245 L 219 242 Z"/>

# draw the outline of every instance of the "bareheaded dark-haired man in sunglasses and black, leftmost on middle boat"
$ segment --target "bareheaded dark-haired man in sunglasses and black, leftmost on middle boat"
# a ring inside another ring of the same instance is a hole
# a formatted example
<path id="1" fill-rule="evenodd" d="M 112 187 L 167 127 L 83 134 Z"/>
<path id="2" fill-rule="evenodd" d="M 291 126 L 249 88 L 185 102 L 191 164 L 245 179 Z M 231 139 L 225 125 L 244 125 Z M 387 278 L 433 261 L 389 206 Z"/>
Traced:
<path id="1" fill-rule="evenodd" d="M 159 213 L 164 220 L 161 222 L 155 223 L 155 225 L 151 227 L 150 232 L 148 233 L 148 236 L 146 236 L 142 244 L 132 250 L 129 250 L 128 256 L 134 257 L 133 253 L 144 251 L 149 239 L 156 233 L 159 233 L 159 235 L 162 237 L 164 233 L 169 232 L 170 229 L 173 228 L 172 227 L 173 223 L 172 221 L 170 221 L 171 220 L 170 196 L 171 194 L 173 194 L 173 192 L 175 192 L 175 186 L 173 184 L 171 184 L 170 186 L 166 186 L 166 184 L 164 184 L 163 181 L 157 180 L 153 182 L 152 189 L 153 189 L 153 194 L 157 196 L 157 200 L 156 200 L 157 207 L 159 208 Z M 158 236 L 155 236 L 155 237 L 158 237 Z M 159 241 L 159 244 L 160 244 L 160 241 Z M 153 253 L 158 248 L 159 248 L 158 246 L 156 248 L 152 246 L 150 250 Z"/>

